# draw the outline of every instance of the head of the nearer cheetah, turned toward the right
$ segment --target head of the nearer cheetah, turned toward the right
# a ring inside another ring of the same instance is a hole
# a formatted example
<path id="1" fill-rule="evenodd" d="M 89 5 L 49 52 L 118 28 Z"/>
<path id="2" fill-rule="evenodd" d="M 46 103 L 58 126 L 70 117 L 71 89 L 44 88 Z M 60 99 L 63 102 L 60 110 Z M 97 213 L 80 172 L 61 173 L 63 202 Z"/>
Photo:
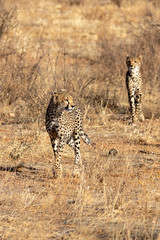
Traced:
<path id="1" fill-rule="evenodd" d="M 59 92 L 53 92 L 53 102 L 57 105 L 59 110 L 68 110 L 71 111 L 74 109 L 75 104 L 73 97 L 69 95 L 65 90 L 60 90 Z"/>

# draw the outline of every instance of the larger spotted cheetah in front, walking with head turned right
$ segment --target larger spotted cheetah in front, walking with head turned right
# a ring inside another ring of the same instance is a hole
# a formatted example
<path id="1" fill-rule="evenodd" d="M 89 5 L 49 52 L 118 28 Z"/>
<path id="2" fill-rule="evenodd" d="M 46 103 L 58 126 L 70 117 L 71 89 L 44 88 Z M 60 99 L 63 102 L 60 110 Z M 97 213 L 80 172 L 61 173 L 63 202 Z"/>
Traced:
<path id="1" fill-rule="evenodd" d="M 88 135 L 83 131 L 82 121 L 82 112 L 75 106 L 71 95 L 64 90 L 52 93 L 46 112 L 46 130 L 54 152 L 54 178 L 62 176 L 61 154 L 65 143 L 75 151 L 73 176 L 79 175 L 80 137 L 86 144 L 92 144 Z"/>

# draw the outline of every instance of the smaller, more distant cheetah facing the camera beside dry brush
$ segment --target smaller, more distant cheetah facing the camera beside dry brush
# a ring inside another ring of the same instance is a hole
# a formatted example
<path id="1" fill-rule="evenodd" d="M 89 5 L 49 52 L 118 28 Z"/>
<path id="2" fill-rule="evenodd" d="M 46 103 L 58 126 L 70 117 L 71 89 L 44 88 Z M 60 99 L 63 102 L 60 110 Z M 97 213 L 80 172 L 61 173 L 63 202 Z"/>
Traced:
<path id="1" fill-rule="evenodd" d="M 140 65 L 142 62 L 142 55 L 137 58 L 126 57 L 126 64 L 128 71 L 126 73 L 126 87 L 128 90 L 128 99 L 131 111 L 131 122 L 138 120 L 144 121 L 144 115 L 141 110 L 142 102 L 142 78 L 140 72 Z"/>

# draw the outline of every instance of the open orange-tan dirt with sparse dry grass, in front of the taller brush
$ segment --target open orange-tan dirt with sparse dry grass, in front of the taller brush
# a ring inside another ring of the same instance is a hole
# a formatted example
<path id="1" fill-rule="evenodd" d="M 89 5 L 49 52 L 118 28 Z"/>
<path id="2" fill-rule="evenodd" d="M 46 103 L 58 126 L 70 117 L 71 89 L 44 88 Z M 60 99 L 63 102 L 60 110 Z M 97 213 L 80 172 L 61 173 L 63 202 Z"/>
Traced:
<path id="1" fill-rule="evenodd" d="M 2 125 L 1 239 L 159 239 L 159 124 L 86 126 L 96 146 L 81 144 L 81 177 L 66 146 L 58 180 L 43 126 Z"/>

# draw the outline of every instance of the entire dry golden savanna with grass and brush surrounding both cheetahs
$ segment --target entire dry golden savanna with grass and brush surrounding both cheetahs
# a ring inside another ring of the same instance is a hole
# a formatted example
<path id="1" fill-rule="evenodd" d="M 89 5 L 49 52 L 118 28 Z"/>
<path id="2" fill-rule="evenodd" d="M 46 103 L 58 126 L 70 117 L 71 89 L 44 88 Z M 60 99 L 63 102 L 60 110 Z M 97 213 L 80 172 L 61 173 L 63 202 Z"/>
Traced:
<path id="1" fill-rule="evenodd" d="M 160 239 L 160 2 L 0 1 L 0 239 Z M 145 122 L 128 125 L 126 55 Z M 52 178 L 45 111 L 67 89 L 95 146 Z"/>

